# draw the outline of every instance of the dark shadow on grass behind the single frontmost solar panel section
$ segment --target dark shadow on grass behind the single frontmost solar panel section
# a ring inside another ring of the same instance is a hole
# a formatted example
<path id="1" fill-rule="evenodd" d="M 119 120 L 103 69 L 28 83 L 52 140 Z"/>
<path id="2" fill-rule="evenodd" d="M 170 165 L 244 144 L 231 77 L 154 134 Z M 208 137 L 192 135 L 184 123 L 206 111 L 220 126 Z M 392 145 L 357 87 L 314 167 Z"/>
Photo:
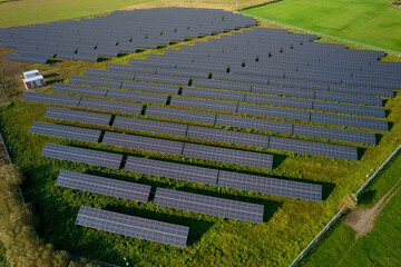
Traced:
<path id="1" fill-rule="evenodd" d="M 146 219 L 159 220 L 163 222 L 169 222 L 180 226 L 189 227 L 187 245 L 194 245 L 199 241 L 203 235 L 214 225 L 213 221 L 197 220 L 188 217 L 182 217 L 177 215 L 156 212 L 146 209 L 134 209 L 131 207 L 125 207 L 120 205 L 109 204 L 102 209 L 110 210 L 119 214 L 137 216 Z"/>

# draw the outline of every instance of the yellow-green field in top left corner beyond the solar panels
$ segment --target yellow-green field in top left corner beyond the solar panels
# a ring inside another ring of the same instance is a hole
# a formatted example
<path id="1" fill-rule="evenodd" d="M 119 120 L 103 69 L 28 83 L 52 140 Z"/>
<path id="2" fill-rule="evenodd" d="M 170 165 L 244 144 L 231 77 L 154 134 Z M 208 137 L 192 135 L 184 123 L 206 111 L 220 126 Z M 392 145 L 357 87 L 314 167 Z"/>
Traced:
<path id="1" fill-rule="evenodd" d="M 20 0 L 0 1 L 0 27 L 9 28 L 107 13 L 156 0 Z"/>

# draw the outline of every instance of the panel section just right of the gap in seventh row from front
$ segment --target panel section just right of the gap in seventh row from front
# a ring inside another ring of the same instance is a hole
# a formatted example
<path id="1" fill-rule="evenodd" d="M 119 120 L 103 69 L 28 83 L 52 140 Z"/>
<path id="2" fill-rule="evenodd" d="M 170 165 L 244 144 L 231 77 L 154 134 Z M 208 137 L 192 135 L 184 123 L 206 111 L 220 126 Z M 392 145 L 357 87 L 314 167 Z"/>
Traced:
<path id="1" fill-rule="evenodd" d="M 217 110 L 226 112 L 236 112 L 237 103 L 234 102 L 222 102 L 206 99 L 195 99 L 195 98 L 182 98 L 182 97 L 172 97 L 170 106 L 177 107 L 187 107 L 205 110 Z"/>

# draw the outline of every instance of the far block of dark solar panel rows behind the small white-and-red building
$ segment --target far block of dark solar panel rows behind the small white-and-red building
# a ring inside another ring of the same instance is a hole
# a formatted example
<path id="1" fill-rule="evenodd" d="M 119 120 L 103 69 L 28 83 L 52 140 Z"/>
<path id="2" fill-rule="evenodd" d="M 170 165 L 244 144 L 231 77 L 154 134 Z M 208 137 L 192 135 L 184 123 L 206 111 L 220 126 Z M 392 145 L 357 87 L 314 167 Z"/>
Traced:
<path id="1" fill-rule="evenodd" d="M 150 13 L 147 11 L 135 13 L 136 16 L 126 13 L 125 16 L 111 14 L 110 18 L 106 17 L 106 19 L 104 17 L 92 26 L 77 21 L 67 22 L 60 28 L 59 23 L 51 23 L 41 27 L 41 30 L 43 30 L 41 37 L 37 34 L 35 27 L 18 27 L 16 30 L 10 29 L 0 32 L 0 40 L 2 46 L 17 48 L 17 55 L 7 57 L 9 60 L 43 63 L 58 52 L 58 58 L 96 61 L 99 56 L 116 57 L 119 51 L 134 52 L 137 47 L 156 48 L 157 44 L 168 44 L 170 40 L 185 40 L 188 37 L 197 38 L 199 34 L 211 34 L 213 31 L 254 24 L 252 18 L 241 14 L 231 13 L 228 16 L 227 13 L 227 16 L 222 16 L 222 13 L 211 13 L 211 16 L 205 17 L 204 11 L 196 9 L 190 14 L 188 11 L 168 9 L 163 13 L 169 13 L 170 16 L 158 16 L 159 12 L 156 10 L 150 11 Z M 140 13 L 143 16 L 139 16 Z M 151 19 L 153 23 L 146 23 L 149 16 L 157 16 L 158 20 Z M 215 21 L 216 23 L 214 23 Z M 105 23 L 107 29 L 104 27 Z M 186 30 L 183 23 L 187 24 Z M 202 23 L 206 24 L 206 27 L 202 27 Z M 119 30 L 124 26 L 125 28 Z M 144 33 L 147 32 L 144 31 L 146 28 L 155 28 L 149 31 L 154 33 Z M 52 30 L 46 31 L 46 29 Z M 129 29 L 140 29 L 141 31 Z M 100 30 L 105 33 L 97 33 Z M 111 32 L 114 36 L 111 36 Z M 33 38 L 29 38 L 29 36 Z M 88 43 L 80 44 L 79 41 L 84 36 L 87 40 L 92 39 L 91 44 L 96 43 L 104 49 L 90 48 Z M 100 36 L 101 38 L 99 38 Z M 125 40 L 125 42 L 120 47 L 116 46 L 119 44 L 120 40 L 121 42 Z M 38 50 L 45 42 L 47 44 L 46 51 Z M 69 47 L 66 46 L 68 43 L 70 43 Z M 49 44 L 52 44 L 53 48 L 49 47 Z M 32 48 L 29 49 L 29 47 Z M 77 49 L 79 52 L 77 52 Z M 48 51 L 51 51 L 52 55 L 49 56 Z M 32 57 L 32 53 L 36 57 Z"/>

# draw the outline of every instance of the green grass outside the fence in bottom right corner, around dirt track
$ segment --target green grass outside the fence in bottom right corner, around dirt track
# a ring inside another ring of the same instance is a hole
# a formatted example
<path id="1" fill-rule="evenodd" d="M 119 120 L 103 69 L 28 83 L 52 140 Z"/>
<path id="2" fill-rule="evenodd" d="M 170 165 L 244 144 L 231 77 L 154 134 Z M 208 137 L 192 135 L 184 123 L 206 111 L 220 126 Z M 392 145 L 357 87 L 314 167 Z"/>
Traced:
<path id="1" fill-rule="evenodd" d="M 361 196 L 361 206 L 372 207 L 401 177 L 401 154 L 391 161 Z M 343 219 L 303 259 L 302 266 L 400 266 L 401 191 L 376 217 L 374 228 L 355 241 L 355 231 Z"/>

